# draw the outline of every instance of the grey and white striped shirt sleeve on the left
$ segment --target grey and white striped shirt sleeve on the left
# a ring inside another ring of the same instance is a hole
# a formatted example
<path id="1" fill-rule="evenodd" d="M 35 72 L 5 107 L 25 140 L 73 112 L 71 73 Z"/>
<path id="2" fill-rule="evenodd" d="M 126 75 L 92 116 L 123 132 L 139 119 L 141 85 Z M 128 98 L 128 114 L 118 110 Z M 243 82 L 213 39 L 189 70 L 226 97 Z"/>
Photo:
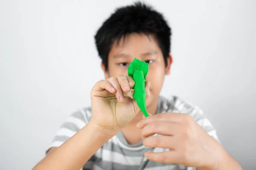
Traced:
<path id="1" fill-rule="evenodd" d="M 79 111 L 71 114 L 57 130 L 57 133 L 50 143 L 47 152 L 51 147 L 61 146 L 61 144 L 76 134 L 89 122 L 91 115 L 90 108 L 80 109 Z"/>

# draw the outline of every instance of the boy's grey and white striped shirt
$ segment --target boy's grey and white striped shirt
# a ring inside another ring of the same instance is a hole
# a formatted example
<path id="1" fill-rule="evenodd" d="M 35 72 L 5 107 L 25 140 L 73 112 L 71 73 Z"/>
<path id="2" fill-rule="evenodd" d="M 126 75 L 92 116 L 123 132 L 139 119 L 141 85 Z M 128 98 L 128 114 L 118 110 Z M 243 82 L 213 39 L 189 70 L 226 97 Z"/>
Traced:
<path id="1" fill-rule="evenodd" d="M 159 96 L 157 113 L 186 113 L 192 116 L 204 130 L 218 141 L 216 131 L 200 108 L 194 106 L 176 96 L 166 99 Z M 67 139 L 84 127 L 91 119 L 91 108 L 76 111 L 61 125 L 50 147 L 59 147 Z M 139 144 L 128 144 L 122 132 L 119 131 L 106 142 L 84 164 L 81 170 L 195 170 L 193 167 L 185 167 L 180 164 L 166 164 L 146 159 L 146 151 L 163 152 L 168 149 L 145 147 Z"/>

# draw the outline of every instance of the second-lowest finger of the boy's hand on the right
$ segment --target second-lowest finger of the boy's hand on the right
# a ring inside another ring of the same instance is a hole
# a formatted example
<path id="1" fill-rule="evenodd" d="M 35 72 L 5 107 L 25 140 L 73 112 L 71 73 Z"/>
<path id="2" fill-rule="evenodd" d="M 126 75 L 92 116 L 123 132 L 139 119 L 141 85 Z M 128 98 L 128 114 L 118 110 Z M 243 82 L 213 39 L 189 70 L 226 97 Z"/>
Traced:
<path id="1" fill-rule="evenodd" d="M 143 145 L 145 147 L 161 147 L 174 150 L 173 138 L 173 136 L 149 136 L 143 140 Z"/>

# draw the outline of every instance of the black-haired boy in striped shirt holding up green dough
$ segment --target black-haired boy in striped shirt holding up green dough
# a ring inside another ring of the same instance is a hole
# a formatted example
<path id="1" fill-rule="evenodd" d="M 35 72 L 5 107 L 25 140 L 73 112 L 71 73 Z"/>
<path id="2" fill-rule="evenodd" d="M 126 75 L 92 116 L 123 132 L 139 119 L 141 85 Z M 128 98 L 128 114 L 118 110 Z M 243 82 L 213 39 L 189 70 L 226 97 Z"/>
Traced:
<path id="1" fill-rule="evenodd" d="M 241 170 L 198 107 L 159 96 L 172 64 L 170 37 L 163 16 L 151 7 L 118 8 L 95 36 L 105 80 L 94 85 L 91 108 L 64 122 L 34 169 Z M 131 97 L 134 80 L 127 73 L 135 57 L 149 65 L 151 116 L 145 119 Z"/>

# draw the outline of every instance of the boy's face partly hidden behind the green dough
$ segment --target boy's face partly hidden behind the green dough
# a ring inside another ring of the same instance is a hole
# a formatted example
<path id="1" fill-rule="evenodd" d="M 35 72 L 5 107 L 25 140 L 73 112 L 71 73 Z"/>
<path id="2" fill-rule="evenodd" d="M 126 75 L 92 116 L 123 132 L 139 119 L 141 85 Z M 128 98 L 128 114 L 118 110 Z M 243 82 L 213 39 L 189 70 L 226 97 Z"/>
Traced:
<path id="1" fill-rule="evenodd" d="M 165 75 L 170 72 L 172 64 L 171 55 L 167 59 L 168 65 L 165 65 L 164 58 L 160 47 L 154 36 L 145 34 L 128 34 L 125 36 L 125 41 L 121 39 L 119 44 L 113 43 L 113 47 L 108 54 L 108 71 L 102 64 L 102 69 L 105 73 L 105 79 L 115 77 L 119 74 L 128 76 L 128 65 L 134 58 L 148 62 L 148 74 L 146 80 L 151 82 L 151 96 L 147 99 L 146 105 L 151 105 L 156 102 L 163 86 Z"/>

